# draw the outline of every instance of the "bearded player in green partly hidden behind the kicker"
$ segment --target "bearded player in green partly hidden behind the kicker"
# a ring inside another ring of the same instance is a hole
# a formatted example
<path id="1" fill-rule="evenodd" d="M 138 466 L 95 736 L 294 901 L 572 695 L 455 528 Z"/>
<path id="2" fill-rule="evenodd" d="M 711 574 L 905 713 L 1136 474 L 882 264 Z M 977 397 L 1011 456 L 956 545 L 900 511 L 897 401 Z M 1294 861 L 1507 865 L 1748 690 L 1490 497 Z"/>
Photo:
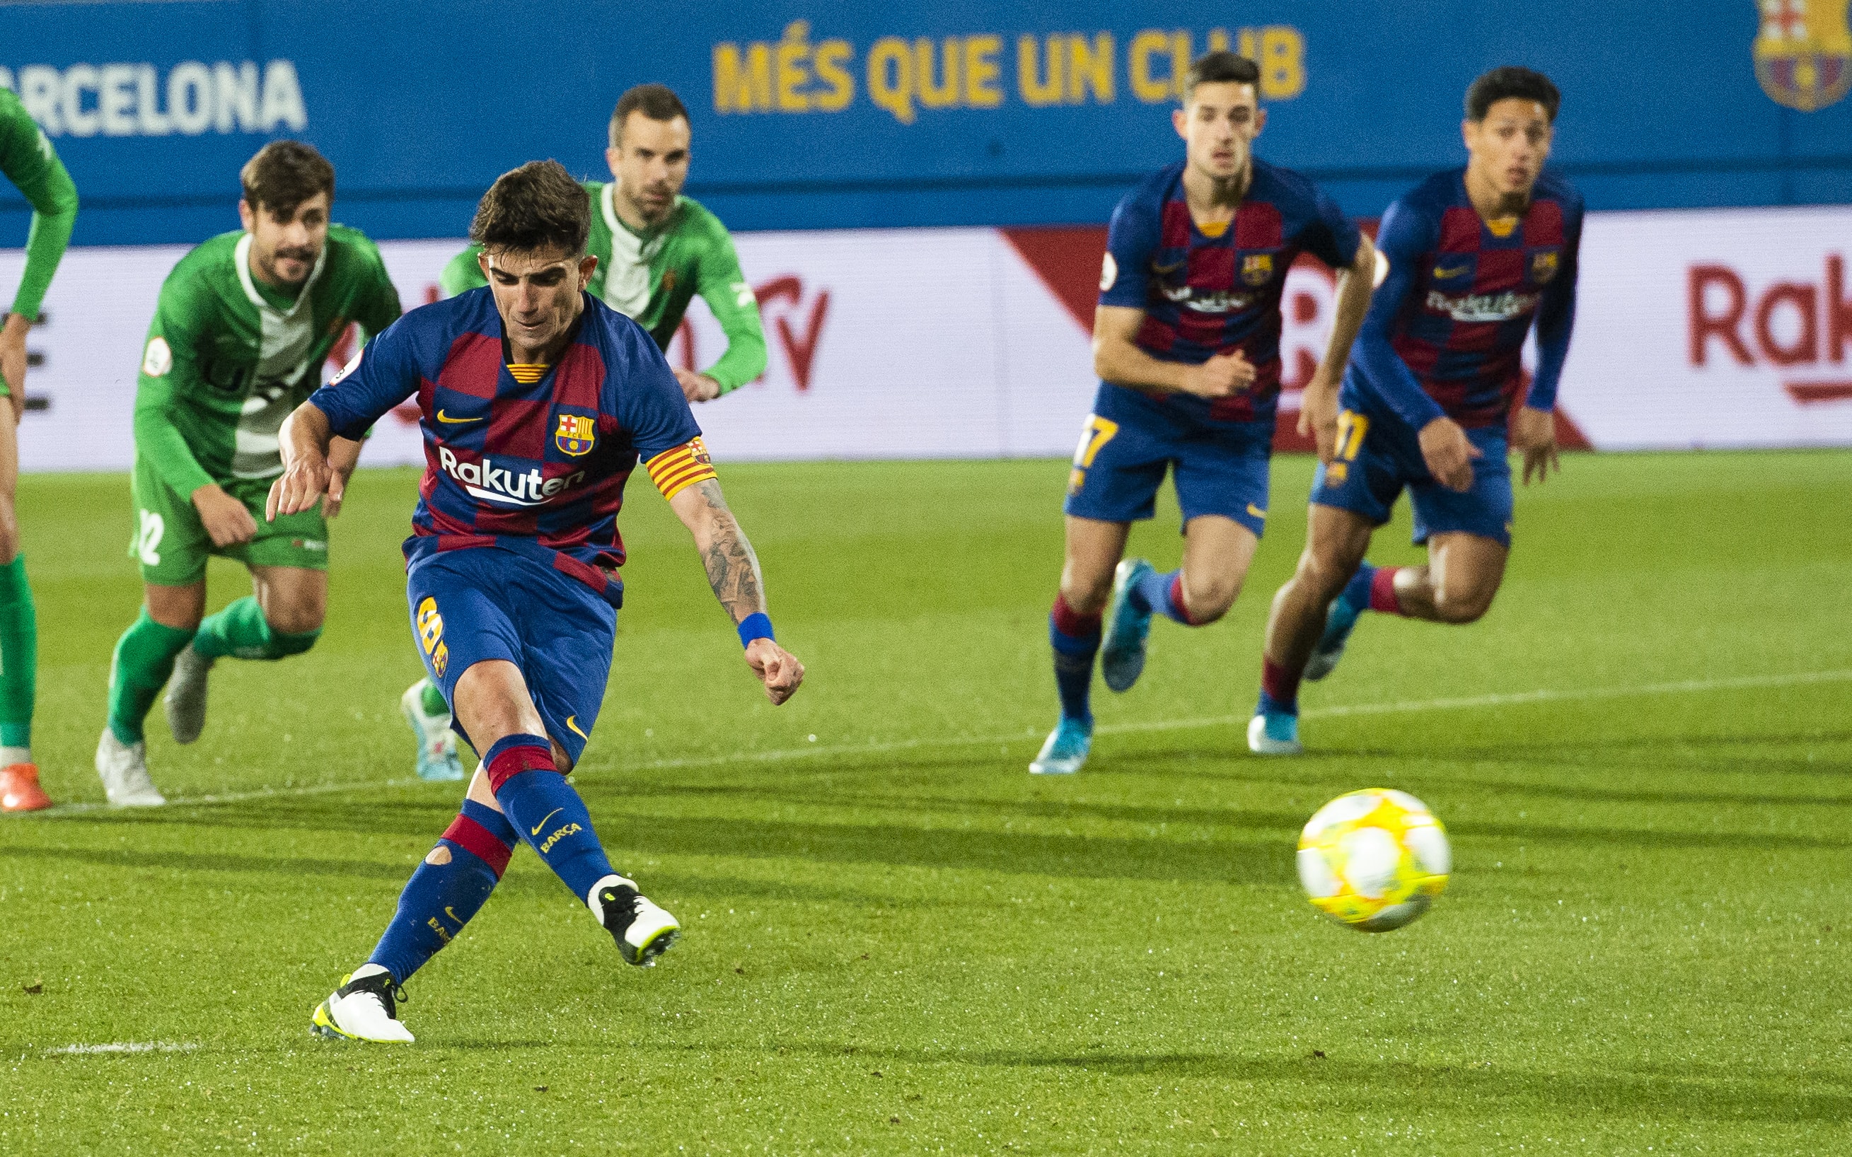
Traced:
<path id="1" fill-rule="evenodd" d="M 637 85 L 619 98 L 604 150 L 613 180 L 582 181 L 591 198 L 585 252 L 598 259 L 585 292 L 635 318 L 661 350 L 698 292 L 726 333 L 726 352 L 698 374 L 676 368 L 676 379 L 689 402 L 711 402 L 765 372 L 765 330 L 726 226 L 682 196 L 689 139 L 689 111 L 669 87 Z M 470 246 L 444 267 L 444 296 L 489 283 L 480 255 Z M 450 709 L 430 679 L 413 683 L 400 709 L 419 735 L 419 776 L 461 778 Z"/>

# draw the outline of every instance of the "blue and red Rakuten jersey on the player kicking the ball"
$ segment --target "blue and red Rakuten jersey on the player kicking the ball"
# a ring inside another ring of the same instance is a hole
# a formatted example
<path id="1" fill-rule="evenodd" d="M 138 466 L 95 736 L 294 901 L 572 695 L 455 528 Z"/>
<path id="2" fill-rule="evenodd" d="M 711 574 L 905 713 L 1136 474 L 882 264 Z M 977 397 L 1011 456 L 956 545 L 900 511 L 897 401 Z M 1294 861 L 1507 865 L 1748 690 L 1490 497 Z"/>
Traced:
<path id="1" fill-rule="evenodd" d="M 404 315 L 309 396 L 357 439 L 417 394 L 424 479 L 407 563 L 472 546 L 539 552 L 617 602 L 606 568 L 624 563 L 617 513 L 637 459 L 672 467 L 674 489 L 713 476 L 648 331 L 591 294 L 583 305 L 565 354 L 530 383 L 506 365 L 493 292 L 472 289 Z"/>

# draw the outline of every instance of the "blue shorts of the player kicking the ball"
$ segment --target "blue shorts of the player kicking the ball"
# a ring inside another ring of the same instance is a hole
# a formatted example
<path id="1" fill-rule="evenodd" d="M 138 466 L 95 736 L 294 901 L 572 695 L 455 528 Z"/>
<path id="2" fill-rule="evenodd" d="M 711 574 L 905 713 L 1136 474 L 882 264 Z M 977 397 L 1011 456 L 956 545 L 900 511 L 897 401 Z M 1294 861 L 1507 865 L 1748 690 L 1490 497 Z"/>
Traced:
<path id="1" fill-rule="evenodd" d="M 578 763 L 611 678 L 611 603 L 576 578 L 493 546 L 419 559 L 406 576 L 406 602 L 424 670 L 446 703 L 465 670 L 507 659 L 528 681 L 546 735 Z M 450 718 L 469 742 L 456 711 Z"/>

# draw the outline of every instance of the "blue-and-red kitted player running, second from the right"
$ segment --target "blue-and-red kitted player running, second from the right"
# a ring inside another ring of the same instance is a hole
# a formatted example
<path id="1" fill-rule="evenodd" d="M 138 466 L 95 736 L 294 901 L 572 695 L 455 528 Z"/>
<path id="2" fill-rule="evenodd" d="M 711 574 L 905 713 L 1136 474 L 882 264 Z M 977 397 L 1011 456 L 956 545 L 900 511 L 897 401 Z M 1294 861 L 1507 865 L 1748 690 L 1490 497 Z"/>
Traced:
<path id="1" fill-rule="evenodd" d="M 1241 591 L 1267 518 L 1280 292 L 1293 259 L 1311 254 L 1341 280 L 1308 394 L 1345 365 L 1369 309 L 1370 243 L 1311 181 L 1254 157 L 1267 122 L 1258 80 L 1254 61 L 1232 52 L 1191 65 L 1183 107 L 1170 115 L 1185 159 L 1113 211 L 1093 320 L 1102 381 L 1074 454 L 1067 561 L 1048 616 L 1061 722 L 1030 763 L 1037 776 L 1078 772 L 1087 759 L 1096 652 L 1106 685 L 1126 690 L 1145 670 L 1152 615 L 1204 626 Z M 1152 516 L 1167 468 L 1183 507 L 1183 566 L 1159 574 L 1119 559 L 1132 522 Z"/>

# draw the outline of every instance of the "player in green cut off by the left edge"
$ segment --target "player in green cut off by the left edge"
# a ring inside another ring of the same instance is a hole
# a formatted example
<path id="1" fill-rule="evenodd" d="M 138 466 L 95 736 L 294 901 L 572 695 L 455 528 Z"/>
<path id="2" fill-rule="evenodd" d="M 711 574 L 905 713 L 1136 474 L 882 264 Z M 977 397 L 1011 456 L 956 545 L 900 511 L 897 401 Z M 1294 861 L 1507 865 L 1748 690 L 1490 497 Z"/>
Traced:
<path id="1" fill-rule="evenodd" d="M 78 220 L 78 187 L 57 163 L 31 115 L 0 89 L 0 172 L 31 204 L 26 270 L 0 326 L 0 811 L 50 807 L 31 761 L 31 700 L 39 679 L 39 620 L 19 552 L 13 489 L 19 485 L 19 420 L 26 413 L 26 331 L 39 320 L 57 261 Z"/>

